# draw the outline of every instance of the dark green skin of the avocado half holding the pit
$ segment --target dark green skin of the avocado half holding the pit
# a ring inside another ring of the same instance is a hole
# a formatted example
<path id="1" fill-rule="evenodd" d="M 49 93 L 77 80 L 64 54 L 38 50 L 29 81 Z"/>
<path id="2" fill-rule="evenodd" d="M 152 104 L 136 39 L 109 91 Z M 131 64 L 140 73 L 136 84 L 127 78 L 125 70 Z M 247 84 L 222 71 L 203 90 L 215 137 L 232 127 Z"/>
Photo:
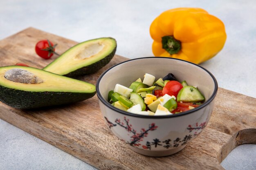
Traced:
<path id="1" fill-rule="evenodd" d="M 95 93 L 96 91 L 93 93 L 22 91 L 0 85 L 0 101 L 18 109 L 42 108 L 81 102 L 93 97 Z"/>

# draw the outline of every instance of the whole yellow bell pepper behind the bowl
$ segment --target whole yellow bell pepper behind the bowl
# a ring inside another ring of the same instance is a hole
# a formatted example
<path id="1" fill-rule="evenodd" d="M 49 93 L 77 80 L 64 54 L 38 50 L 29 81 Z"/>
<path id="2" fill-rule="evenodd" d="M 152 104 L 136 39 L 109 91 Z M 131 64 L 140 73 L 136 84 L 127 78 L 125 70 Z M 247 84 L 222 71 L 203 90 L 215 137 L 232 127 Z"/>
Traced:
<path id="1" fill-rule="evenodd" d="M 214 57 L 227 35 L 223 22 L 200 8 L 176 8 L 160 14 L 150 26 L 158 57 L 173 57 L 199 64 Z"/>

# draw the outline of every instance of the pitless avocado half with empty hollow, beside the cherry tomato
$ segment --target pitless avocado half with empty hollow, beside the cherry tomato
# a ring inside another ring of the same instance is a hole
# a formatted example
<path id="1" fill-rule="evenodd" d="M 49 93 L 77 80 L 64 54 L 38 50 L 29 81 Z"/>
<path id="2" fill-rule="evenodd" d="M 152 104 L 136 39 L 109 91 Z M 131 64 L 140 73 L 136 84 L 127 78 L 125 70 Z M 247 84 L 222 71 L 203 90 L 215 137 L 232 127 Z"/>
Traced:
<path id="1" fill-rule="evenodd" d="M 108 64 L 116 49 L 117 42 L 114 38 L 81 42 L 65 51 L 43 70 L 67 77 L 91 74 Z"/>

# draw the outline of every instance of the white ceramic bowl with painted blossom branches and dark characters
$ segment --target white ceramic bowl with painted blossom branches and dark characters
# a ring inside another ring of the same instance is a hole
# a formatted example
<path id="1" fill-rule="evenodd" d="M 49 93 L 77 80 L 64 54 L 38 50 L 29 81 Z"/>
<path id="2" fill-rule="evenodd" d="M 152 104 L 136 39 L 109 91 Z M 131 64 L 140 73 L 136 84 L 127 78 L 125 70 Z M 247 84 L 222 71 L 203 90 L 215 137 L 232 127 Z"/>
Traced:
<path id="1" fill-rule="evenodd" d="M 116 84 L 129 87 L 145 73 L 156 79 L 173 73 L 178 81 L 186 80 L 197 86 L 206 101 L 184 113 L 164 116 L 147 116 L 129 113 L 108 103 L 108 92 Z M 106 70 L 97 81 L 97 96 L 101 113 L 110 130 L 135 152 L 162 157 L 182 150 L 207 125 L 218 84 L 206 69 L 183 60 L 167 57 L 145 57 L 119 63 Z"/>

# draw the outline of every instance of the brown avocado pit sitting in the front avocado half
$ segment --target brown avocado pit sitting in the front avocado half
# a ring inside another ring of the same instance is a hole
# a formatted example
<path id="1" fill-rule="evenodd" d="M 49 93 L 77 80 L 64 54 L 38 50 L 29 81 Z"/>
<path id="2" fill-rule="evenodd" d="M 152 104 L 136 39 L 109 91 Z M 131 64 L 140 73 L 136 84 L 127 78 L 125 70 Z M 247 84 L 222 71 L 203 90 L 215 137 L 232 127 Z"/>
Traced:
<path id="1" fill-rule="evenodd" d="M 5 72 L 4 77 L 12 82 L 25 83 L 25 84 L 39 84 L 43 80 L 21 68 L 13 68 Z"/>

